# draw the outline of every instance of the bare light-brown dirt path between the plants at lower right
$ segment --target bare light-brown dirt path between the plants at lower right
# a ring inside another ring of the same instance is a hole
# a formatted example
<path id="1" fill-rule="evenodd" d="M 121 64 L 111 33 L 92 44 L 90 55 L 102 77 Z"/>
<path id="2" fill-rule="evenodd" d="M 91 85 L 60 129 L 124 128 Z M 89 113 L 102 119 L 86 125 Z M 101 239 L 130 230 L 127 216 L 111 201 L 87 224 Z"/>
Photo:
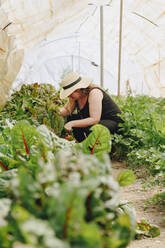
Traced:
<path id="1" fill-rule="evenodd" d="M 120 171 L 127 169 L 122 163 L 112 163 L 112 174 L 116 178 Z M 134 240 L 128 246 L 128 248 L 165 248 L 165 221 L 163 216 L 165 214 L 157 207 L 149 207 L 144 211 L 144 205 L 147 199 L 151 199 L 152 196 L 157 193 L 156 187 L 144 190 L 142 187 L 141 179 L 129 186 L 120 188 L 120 199 L 128 200 L 133 203 L 136 210 L 136 219 L 140 221 L 145 219 L 150 224 L 157 225 L 160 228 L 160 236 L 155 238 L 142 238 L 140 240 Z"/>

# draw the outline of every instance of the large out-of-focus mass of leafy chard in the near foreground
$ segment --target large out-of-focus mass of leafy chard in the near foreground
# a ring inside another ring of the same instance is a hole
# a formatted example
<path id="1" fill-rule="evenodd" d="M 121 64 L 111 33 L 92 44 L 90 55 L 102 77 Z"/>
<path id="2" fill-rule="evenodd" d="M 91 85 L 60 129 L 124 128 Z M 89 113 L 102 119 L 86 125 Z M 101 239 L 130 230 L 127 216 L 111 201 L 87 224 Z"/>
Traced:
<path id="1" fill-rule="evenodd" d="M 18 174 L 9 174 L 11 169 L 0 175 L 0 183 L 7 182 L 0 206 L 4 196 L 10 203 L 1 215 L 5 248 L 18 243 L 48 248 L 128 245 L 134 230 L 130 216 L 118 212 L 118 183 L 107 154 L 98 160 L 72 145 L 56 150 L 47 162 L 42 157 L 32 161 L 35 170 L 26 160 Z"/>

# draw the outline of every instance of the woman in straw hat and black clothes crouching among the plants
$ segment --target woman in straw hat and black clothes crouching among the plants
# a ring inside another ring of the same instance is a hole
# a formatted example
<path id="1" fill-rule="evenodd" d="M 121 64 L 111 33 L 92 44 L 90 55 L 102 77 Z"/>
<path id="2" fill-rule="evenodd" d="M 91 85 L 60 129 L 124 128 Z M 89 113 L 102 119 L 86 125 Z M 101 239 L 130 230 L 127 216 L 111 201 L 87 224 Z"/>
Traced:
<path id="1" fill-rule="evenodd" d="M 83 141 L 90 133 L 90 127 L 99 123 L 113 134 L 118 130 L 118 124 L 123 122 L 118 116 L 121 113 L 111 97 L 91 78 L 82 78 L 71 72 L 62 80 L 60 98 L 68 97 L 68 102 L 60 109 L 60 115 L 67 117 L 65 129 L 73 130 L 75 139 Z M 73 111 L 77 110 L 74 114 Z"/>

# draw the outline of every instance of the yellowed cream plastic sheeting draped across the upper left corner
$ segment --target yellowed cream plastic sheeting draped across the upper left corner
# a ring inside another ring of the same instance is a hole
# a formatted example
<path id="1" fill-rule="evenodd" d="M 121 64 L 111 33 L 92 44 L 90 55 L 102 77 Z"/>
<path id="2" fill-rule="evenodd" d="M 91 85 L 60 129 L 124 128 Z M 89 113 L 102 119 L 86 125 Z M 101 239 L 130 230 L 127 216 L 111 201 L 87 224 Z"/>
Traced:
<path id="1" fill-rule="evenodd" d="M 88 14 L 87 0 L 1 0 L 0 1 L 0 62 L 2 75 L 10 71 L 10 77 L 0 75 L 0 105 L 6 101 L 9 89 L 23 62 L 22 50 L 34 47 L 49 33 L 55 30 L 55 37 L 64 35 L 66 30 L 73 32 L 77 22 Z M 12 48 L 10 38 L 12 37 Z M 1 38 L 2 40 L 2 38 Z M 6 44 L 7 49 L 3 49 Z M 10 52 L 9 52 L 10 50 Z M 11 54 L 15 54 L 10 59 Z M 11 63 L 11 60 L 13 61 Z M 12 74 L 12 75 L 11 75 Z M 7 81 L 7 82 L 6 82 Z"/>

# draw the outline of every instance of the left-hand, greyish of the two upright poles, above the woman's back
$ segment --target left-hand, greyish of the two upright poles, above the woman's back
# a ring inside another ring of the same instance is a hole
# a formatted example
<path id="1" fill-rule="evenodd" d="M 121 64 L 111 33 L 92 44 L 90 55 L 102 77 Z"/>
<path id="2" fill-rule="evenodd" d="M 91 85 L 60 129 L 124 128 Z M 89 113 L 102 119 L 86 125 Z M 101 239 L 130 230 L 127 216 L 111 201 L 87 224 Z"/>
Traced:
<path id="1" fill-rule="evenodd" d="M 100 86 L 104 86 L 104 19 L 103 6 L 100 6 Z"/>

